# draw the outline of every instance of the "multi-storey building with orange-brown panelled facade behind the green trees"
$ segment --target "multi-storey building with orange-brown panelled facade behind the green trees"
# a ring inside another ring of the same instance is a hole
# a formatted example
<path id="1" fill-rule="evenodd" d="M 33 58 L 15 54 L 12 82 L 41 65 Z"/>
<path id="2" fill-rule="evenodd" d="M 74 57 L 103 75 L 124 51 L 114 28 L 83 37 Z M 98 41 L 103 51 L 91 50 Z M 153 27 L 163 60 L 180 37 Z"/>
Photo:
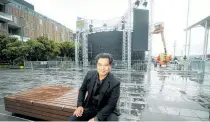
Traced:
<path id="1" fill-rule="evenodd" d="M 23 41 L 40 36 L 54 41 L 73 40 L 72 30 L 34 11 L 34 6 L 24 0 L 0 1 L 0 34 Z"/>

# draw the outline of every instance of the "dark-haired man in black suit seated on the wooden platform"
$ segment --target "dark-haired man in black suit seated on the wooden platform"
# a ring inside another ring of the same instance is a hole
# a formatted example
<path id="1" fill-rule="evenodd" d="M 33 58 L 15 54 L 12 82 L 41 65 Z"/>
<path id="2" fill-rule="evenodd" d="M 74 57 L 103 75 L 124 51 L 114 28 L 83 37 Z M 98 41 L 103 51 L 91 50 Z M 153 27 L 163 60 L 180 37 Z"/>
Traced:
<path id="1" fill-rule="evenodd" d="M 120 81 L 110 71 L 113 58 L 96 56 L 97 71 L 89 71 L 79 89 L 77 109 L 70 121 L 117 121 Z M 87 97 L 86 97 L 87 93 Z"/>

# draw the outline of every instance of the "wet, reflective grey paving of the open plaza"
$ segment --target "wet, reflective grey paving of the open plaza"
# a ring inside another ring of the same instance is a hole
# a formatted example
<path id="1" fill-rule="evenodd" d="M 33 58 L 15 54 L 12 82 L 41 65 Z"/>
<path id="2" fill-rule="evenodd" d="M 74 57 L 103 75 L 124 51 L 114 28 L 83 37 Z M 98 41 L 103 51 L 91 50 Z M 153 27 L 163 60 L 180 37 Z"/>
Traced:
<path id="1" fill-rule="evenodd" d="M 40 85 L 80 87 L 88 70 L 26 69 L 0 70 L 0 97 Z M 209 75 L 200 82 L 176 72 L 147 73 L 112 71 L 122 80 L 119 107 L 120 120 L 142 121 L 205 121 L 209 120 Z M 192 74 L 191 74 L 192 75 Z M 192 75 L 193 76 L 193 75 Z"/>

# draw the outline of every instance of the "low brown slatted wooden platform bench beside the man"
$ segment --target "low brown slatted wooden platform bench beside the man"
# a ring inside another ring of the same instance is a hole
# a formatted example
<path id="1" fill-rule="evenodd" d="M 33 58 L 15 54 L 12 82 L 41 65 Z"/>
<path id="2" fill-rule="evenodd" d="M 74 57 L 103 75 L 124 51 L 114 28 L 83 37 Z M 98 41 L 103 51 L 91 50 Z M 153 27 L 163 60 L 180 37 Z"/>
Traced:
<path id="1" fill-rule="evenodd" d="M 65 121 L 76 109 L 78 89 L 42 86 L 4 97 L 5 110 L 42 120 Z"/>

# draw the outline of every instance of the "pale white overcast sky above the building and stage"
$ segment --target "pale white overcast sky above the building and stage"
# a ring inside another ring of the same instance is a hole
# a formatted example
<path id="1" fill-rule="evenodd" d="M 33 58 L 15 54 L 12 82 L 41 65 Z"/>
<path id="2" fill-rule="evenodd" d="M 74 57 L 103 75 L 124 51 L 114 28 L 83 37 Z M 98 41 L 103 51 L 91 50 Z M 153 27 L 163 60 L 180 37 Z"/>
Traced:
<path id="1" fill-rule="evenodd" d="M 120 17 L 128 9 L 128 0 L 26 0 L 35 11 L 75 30 L 77 16 L 110 20 Z M 135 0 L 133 0 L 135 1 Z M 154 21 L 164 22 L 168 52 L 184 54 L 188 0 L 154 0 Z M 210 15 L 210 0 L 190 0 L 189 25 Z M 191 31 L 191 54 L 203 53 L 204 29 Z M 153 55 L 163 52 L 160 35 L 154 35 Z M 209 44 L 210 45 L 210 44 Z M 208 48 L 208 53 L 210 49 Z"/>

